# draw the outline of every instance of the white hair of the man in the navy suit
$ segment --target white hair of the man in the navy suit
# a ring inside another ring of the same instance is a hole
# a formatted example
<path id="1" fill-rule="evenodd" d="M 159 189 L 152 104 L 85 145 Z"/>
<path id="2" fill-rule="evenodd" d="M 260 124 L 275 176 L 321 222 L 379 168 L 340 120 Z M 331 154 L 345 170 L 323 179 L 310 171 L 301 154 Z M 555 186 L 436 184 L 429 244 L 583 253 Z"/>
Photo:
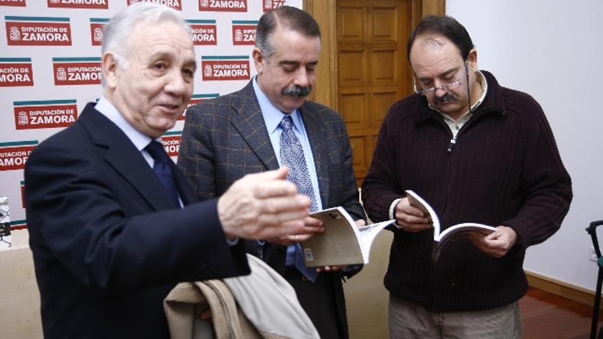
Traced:
<path id="1" fill-rule="evenodd" d="M 191 36 L 191 29 L 180 13 L 173 8 L 156 3 L 138 2 L 127 6 L 125 10 L 115 14 L 105 26 L 103 33 L 102 55 L 111 51 L 119 67 L 126 69 L 132 48 L 128 44 L 136 25 L 141 23 L 171 22 L 181 25 Z M 191 36 L 192 38 L 192 36 Z M 104 84 L 104 81 L 103 81 Z"/>

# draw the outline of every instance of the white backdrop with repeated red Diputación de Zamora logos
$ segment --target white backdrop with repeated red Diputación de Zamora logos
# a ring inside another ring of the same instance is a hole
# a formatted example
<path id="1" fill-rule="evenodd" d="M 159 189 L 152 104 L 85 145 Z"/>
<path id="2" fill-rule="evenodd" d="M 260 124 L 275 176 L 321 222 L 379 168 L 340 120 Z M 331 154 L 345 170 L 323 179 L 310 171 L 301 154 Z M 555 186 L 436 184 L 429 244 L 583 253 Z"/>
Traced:
<path id="1" fill-rule="evenodd" d="M 0 197 L 10 201 L 12 230 L 27 228 L 27 156 L 99 99 L 103 27 L 139 1 L 0 0 Z M 181 11 L 193 28 L 198 64 L 191 104 L 238 90 L 256 74 L 251 50 L 264 12 L 302 8 L 302 0 L 144 1 Z M 163 138 L 174 160 L 185 116 Z"/>

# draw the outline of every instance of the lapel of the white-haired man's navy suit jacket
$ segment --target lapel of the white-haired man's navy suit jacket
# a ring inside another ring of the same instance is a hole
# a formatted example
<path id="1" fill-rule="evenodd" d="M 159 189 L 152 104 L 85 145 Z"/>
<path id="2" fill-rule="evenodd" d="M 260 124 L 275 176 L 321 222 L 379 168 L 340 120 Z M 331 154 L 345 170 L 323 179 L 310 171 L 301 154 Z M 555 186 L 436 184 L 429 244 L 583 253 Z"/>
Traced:
<path id="1" fill-rule="evenodd" d="M 106 149 L 104 158 L 155 210 L 173 208 L 159 179 L 132 141 L 108 118 L 88 104 L 79 117 L 93 142 Z"/>

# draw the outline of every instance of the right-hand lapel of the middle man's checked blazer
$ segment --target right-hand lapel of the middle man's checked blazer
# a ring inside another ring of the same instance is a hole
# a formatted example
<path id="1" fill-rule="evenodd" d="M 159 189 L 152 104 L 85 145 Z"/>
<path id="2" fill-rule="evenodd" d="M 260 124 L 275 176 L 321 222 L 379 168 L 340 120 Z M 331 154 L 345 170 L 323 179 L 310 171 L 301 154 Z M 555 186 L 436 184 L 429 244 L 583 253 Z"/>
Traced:
<path id="1" fill-rule="evenodd" d="M 325 127 L 326 123 L 319 112 L 312 110 L 311 106 L 304 103 L 299 108 L 299 114 L 302 115 L 308 142 L 312 149 L 312 157 L 316 166 L 316 175 L 322 201 L 322 208 L 329 202 L 329 155 L 326 140 L 328 140 L 329 131 Z"/>

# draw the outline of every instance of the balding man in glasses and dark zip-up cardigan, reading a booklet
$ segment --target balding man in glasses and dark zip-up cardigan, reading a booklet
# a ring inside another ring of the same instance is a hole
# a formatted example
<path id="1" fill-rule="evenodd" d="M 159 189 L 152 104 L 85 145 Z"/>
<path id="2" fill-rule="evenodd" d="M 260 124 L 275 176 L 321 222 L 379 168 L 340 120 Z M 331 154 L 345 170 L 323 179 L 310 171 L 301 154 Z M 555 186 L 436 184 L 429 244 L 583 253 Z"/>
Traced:
<path id="1" fill-rule="evenodd" d="M 524 255 L 560 227 L 571 179 L 540 105 L 478 71 L 463 25 L 424 18 L 407 51 L 419 90 L 390 108 L 362 184 L 369 217 L 397 221 L 384 279 L 391 338 L 520 338 Z M 452 242 L 434 262 L 433 227 L 405 190 L 442 229 L 497 231 Z"/>

